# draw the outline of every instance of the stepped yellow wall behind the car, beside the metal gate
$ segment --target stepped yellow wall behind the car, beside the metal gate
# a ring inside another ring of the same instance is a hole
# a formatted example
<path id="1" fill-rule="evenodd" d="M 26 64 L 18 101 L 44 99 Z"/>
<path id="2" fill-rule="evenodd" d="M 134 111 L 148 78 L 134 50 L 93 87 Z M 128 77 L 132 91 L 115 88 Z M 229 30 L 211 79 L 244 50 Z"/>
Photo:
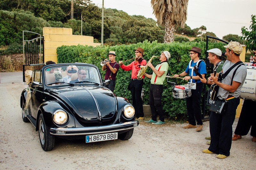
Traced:
<path id="1" fill-rule="evenodd" d="M 94 43 L 92 36 L 72 35 L 72 28 L 44 27 L 44 63 L 46 61 L 57 61 L 57 47 L 62 45 L 88 45 L 96 47 L 100 43 Z"/>

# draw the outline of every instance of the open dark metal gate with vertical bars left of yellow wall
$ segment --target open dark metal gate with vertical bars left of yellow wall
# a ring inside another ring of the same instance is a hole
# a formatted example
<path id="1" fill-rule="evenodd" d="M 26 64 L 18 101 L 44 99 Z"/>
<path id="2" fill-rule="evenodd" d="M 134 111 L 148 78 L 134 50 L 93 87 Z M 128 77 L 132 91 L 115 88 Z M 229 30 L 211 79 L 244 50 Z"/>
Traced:
<path id="1" fill-rule="evenodd" d="M 39 37 L 24 40 L 24 33 L 33 33 Z M 39 33 L 23 31 L 23 82 L 25 82 L 25 70 L 35 65 L 44 65 L 44 37 Z"/>

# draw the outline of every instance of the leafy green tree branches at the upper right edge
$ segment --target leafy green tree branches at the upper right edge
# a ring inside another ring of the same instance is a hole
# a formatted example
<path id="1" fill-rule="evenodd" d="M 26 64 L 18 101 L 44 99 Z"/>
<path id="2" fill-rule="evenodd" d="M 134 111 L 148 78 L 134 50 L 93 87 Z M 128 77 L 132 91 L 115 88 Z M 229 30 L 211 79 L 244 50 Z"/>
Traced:
<path id="1" fill-rule="evenodd" d="M 250 25 L 250 30 L 244 26 L 242 27 L 242 39 L 244 40 L 244 44 L 246 45 L 246 50 L 254 51 L 256 49 L 256 15 L 252 15 L 252 21 Z"/>

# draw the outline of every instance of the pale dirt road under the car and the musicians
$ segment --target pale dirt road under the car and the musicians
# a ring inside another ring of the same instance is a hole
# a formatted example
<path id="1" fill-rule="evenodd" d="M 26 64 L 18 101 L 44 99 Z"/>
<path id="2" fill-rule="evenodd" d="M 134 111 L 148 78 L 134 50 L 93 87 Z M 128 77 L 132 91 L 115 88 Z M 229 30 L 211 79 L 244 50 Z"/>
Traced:
<path id="1" fill-rule="evenodd" d="M 209 146 L 204 139 L 209 122 L 201 132 L 183 129 L 184 124 L 143 122 L 127 141 L 57 140 L 52 151 L 44 152 L 34 126 L 21 118 L 20 93 L 26 87 L 21 72 L 1 73 L 0 169 L 255 169 L 256 143 L 250 135 L 232 142 L 227 159 L 202 152 Z"/>

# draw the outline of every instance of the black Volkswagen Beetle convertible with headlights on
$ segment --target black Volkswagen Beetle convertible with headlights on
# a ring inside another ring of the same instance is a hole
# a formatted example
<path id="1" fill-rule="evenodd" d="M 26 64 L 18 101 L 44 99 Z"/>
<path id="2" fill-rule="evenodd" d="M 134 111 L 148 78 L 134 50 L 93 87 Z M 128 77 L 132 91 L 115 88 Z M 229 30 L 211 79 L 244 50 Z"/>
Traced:
<path id="1" fill-rule="evenodd" d="M 52 150 L 55 137 L 86 143 L 132 137 L 139 125 L 134 107 L 104 83 L 92 64 L 51 64 L 33 71 L 20 106 L 23 121 L 36 127 L 44 151 Z"/>

